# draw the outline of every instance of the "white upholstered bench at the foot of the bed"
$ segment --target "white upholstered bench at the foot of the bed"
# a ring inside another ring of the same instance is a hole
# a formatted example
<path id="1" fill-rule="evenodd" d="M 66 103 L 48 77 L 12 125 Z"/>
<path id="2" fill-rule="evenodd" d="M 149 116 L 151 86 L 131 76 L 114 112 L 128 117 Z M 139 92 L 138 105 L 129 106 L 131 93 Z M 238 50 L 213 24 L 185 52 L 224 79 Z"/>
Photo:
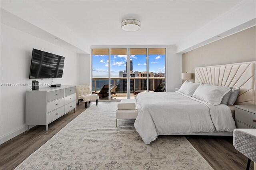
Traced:
<path id="1" fill-rule="evenodd" d="M 116 127 L 117 119 L 136 119 L 138 116 L 136 99 L 122 99 L 117 104 L 116 110 Z"/>

